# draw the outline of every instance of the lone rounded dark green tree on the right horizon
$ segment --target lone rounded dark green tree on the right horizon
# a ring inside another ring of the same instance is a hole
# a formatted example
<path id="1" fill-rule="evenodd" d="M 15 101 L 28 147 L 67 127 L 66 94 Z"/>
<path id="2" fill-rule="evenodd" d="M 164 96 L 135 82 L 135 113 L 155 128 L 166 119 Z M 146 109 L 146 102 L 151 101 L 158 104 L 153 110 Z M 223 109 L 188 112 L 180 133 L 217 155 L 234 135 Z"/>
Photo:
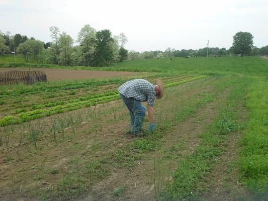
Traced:
<path id="1" fill-rule="evenodd" d="M 233 36 L 231 50 L 235 54 L 249 54 L 253 48 L 253 36 L 249 32 L 237 32 Z"/>

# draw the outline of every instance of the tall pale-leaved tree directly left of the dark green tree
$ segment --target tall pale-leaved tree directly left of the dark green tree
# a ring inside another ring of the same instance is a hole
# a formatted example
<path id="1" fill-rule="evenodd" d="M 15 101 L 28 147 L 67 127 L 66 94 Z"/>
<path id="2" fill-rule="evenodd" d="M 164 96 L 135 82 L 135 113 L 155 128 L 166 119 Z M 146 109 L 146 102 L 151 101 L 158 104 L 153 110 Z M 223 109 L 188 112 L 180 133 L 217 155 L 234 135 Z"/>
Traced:
<path id="1" fill-rule="evenodd" d="M 81 46 L 79 60 L 83 61 L 83 65 L 92 65 L 96 49 L 96 30 L 90 25 L 85 25 L 78 33 L 77 42 Z"/>

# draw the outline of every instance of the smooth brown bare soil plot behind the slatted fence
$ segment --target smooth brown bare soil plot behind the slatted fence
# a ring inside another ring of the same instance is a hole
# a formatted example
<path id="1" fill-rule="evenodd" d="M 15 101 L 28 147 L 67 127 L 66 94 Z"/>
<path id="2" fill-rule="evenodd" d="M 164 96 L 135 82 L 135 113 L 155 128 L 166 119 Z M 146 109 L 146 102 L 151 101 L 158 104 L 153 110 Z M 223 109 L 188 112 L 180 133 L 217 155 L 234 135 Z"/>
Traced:
<path id="1" fill-rule="evenodd" d="M 29 70 L 29 68 L 0 68 L 0 72 L 10 70 Z M 115 72 L 115 71 L 94 71 L 94 70 L 69 70 L 55 68 L 30 68 L 30 70 L 39 70 L 45 72 L 48 81 L 54 80 L 74 80 L 89 78 L 107 78 L 119 76 L 131 76 L 138 73 L 135 72 Z"/>

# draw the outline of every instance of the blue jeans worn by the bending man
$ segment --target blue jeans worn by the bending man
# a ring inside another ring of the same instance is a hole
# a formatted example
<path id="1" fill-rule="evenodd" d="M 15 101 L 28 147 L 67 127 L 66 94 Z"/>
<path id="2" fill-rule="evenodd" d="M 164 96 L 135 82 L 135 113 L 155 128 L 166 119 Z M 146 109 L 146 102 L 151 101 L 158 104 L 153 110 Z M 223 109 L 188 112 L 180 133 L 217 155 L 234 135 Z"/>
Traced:
<path id="1" fill-rule="evenodd" d="M 126 104 L 130 114 L 130 132 L 135 134 L 141 131 L 142 124 L 145 117 L 145 108 L 138 100 L 134 98 L 127 98 L 120 93 L 123 102 Z"/>

